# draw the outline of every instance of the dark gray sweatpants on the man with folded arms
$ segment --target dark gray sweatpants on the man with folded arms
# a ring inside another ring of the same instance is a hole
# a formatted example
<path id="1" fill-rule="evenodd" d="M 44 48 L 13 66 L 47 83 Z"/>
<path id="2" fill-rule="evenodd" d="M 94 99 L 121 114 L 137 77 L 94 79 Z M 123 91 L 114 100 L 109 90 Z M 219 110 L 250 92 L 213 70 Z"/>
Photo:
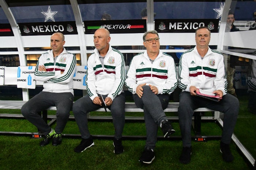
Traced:
<path id="1" fill-rule="evenodd" d="M 38 130 L 47 135 L 51 131 L 51 127 L 45 123 L 38 113 L 51 106 L 56 106 L 57 123 L 54 130 L 57 134 L 61 134 L 68 122 L 73 100 L 74 96 L 71 92 L 53 93 L 41 91 L 22 106 L 21 113 Z"/>

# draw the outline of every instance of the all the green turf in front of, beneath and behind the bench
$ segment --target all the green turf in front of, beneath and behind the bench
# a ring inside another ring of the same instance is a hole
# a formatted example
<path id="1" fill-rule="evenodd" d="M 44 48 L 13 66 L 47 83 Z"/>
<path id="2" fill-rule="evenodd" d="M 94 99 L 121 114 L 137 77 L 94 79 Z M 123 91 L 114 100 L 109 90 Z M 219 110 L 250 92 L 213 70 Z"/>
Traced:
<path id="1" fill-rule="evenodd" d="M 256 115 L 247 111 L 246 96 L 239 98 L 240 112 L 234 134 L 242 145 L 256 158 Z M 0 109 L 0 113 L 21 114 L 20 110 Z M 55 111 L 48 111 L 54 115 Z M 109 112 L 91 112 L 91 115 L 106 116 Z M 71 115 L 73 113 L 71 112 Z M 167 116 L 177 116 L 177 113 L 167 112 Z M 126 116 L 143 116 L 143 112 L 129 112 Z M 206 112 L 205 116 L 212 116 Z M 50 121 L 50 120 L 48 120 Z M 175 136 L 180 136 L 178 120 L 172 123 L 176 130 Z M 52 125 L 54 128 L 56 123 Z M 113 135 L 112 122 L 89 121 L 89 130 L 92 135 Z M 24 118 L 1 118 L 0 131 L 37 132 L 37 128 Z M 75 120 L 69 120 L 64 134 L 80 134 Z M 202 135 L 221 135 L 222 128 L 216 122 L 202 121 Z M 144 122 L 129 122 L 124 126 L 123 135 L 146 135 Z M 162 135 L 161 129 L 158 135 Z M 192 130 L 192 135 L 194 135 Z M 0 135 L 0 170 L 250 170 L 251 165 L 240 154 L 236 145 L 230 145 L 234 161 L 224 162 L 219 152 L 219 140 L 207 142 L 192 142 L 192 157 L 188 165 L 179 163 L 178 157 L 182 149 L 181 140 L 161 140 L 155 148 L 155 160 L 150 165 L 139 163 L 144 140 L 123 140 L 124 153 L 113 153 L 113 141 L 94 139 L 95 146 L 83 153 L 75 153 L 74 148 L 80 139 L 63 137 L 63 143 L 57 147 L 49 144 L 40 147 L 42 139 L 21 137 L 14 135 Z"/>

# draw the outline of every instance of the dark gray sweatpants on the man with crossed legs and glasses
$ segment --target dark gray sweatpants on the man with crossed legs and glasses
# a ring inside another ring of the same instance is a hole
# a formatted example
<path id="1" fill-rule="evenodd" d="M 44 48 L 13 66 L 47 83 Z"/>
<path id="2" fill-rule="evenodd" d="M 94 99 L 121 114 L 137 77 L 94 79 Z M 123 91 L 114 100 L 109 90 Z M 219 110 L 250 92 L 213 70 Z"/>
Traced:
<path id="1" fill-rule="evenodd" d="M 142 86 L 143 95 L 139 98 L 137 94 L 133 95 L 133 100 L 139 108 L 144 110 L 144 120 L 146 125 L 146 146 L 155 149 L 157 143 L 157 131 L 162 120 L 167 120 L 165 110 L 169 104 L 169 94 L 156 95 L 149 86 Z"/>

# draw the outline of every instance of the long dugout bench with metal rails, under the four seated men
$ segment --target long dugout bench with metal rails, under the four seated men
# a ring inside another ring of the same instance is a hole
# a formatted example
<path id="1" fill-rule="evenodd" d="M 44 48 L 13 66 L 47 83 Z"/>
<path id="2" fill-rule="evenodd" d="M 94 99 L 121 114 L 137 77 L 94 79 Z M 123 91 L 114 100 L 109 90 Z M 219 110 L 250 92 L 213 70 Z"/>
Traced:
<path id="1" fill-rule="evenodd" d="M 0 109 L 21 109 L 23 104 L 26 103 L 26 101 L 18 101 L 18 100 L 0 100 Z M 169 103 L 168 107 L 165 109 L 165 112 L 177 112 L 178 111 L 178 104 L 177 102 Z M 47 110 L 56 110 L 56 107 L 49 107 Z M 47 122 L 48 119 L 50 119 L 49 125 L 56 122 L 56 115 L 48 115 L 47 110 L 42 111 L 41 116 L 42 118 Z M 105 112 L 104 108 L 99 108 L 96 110 L 98 112 Z M 110 111 L 107 108 L 107 111 Z M 214 112 L 213 116 L 202 116 L 203 112 Z M 136 106 L 135 103 L 125 103 L 125 112 L 143 112 L 143 109 L 140 109 Z M 217 116 L 219 115 L 219 112 L 210 110 L 208 108 L 198 108 L 195 110 L 195 114 L 193 116 L 193 129 L 195 131 L 195 136 L 192 137 L 192 140 L 194 141 L 206 141 L 211 139 L 220 139 L 221 136 L 202 136 L 201 135 L 201 121 L 202 120 L 210 120 L 215 121 L 217 119 Z M 112 122 L 112 116 L 92 116 L 90 113 L 87 115 L 89 121 L 111 121 Z M 0 118 L 24 118 L 22 114 L 0 114 Z M 178 121 L 177 116 L 167 116 L 169 120 Z M 74 116 L 69 116 L 70 120 L 74 120 Z M 144 121 L 143 116 L 125 116 L 126 122 L 138 122 L 138 121 Z M 42 134 L 40 132 L 37 133 L 28 133 L 28 132 L 7 132 L 7 131 L 0 131 L 0 135 L 20 135 L 20 136 L 31 136 L 34 138 L 41 138 Z M 98 139 L 112 139 L 113 135 L 93 135 L 94 138 Z M 80 135 L 78 134 L 63 134 L 63 137 L 70 137 L 70 138 L 80 138 Z M 146 136 L 123 136 L 123 139 L 146 139 Z M 163 138 L 163 136 L 159 136 L 158 140 L 180 140 L 181 136 L 170 136 L 169 138 Z"/>

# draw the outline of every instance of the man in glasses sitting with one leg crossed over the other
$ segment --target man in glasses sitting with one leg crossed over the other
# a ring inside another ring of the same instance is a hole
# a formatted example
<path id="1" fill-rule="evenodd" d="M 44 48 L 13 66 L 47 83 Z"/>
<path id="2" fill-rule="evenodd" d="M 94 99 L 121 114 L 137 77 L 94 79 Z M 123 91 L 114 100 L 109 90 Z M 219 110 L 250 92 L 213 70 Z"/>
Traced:
<path id="1" fill-rule="evenodd" d="M 159 50 L 157 31 L 144 33 L 143 44 L 147 51 L 133 57 L 125 86 L 132 92 L 135 104 L 144 110 L 147 139 L 139 161 L 151 163 L 155 159 L 158 127 L 165 138 L 175 132 L 163 110 L 177 87 L 177 73 L 173 58 Z"/>

